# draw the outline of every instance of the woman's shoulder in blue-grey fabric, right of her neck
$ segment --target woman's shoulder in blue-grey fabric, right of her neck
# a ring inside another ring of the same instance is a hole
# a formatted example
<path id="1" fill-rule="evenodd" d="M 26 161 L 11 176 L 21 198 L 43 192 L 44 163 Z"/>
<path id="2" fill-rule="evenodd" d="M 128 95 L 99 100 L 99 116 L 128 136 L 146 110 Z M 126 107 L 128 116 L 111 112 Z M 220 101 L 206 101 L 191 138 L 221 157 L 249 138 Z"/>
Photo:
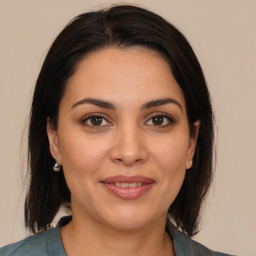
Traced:
<path id="1" fill-rule="evenodd" d="M 177 230 L 168 219 L 166 221 L 166 230 L 173 239 L 173 246 L 176 256 L 232 256 L 226 253 L 213 251 L 199 242 L 192 240 L 184 233 Z"/>

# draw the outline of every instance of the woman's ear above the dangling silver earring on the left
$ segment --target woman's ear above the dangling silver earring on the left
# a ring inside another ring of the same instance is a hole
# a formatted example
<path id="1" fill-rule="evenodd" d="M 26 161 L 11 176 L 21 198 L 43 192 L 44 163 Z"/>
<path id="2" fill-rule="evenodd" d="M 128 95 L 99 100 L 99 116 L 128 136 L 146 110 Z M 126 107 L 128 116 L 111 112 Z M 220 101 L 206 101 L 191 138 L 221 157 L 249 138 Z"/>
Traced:
<path id="1" fill-rule="evenodd" d="M 57 130 L 53 128 L 49 116 L 47 117 L 46 131 L 49 140 L 50 154 L 54 159 L 57 157 L 58 164 L 61 165 L 62 161 L 58 148 Z"/>

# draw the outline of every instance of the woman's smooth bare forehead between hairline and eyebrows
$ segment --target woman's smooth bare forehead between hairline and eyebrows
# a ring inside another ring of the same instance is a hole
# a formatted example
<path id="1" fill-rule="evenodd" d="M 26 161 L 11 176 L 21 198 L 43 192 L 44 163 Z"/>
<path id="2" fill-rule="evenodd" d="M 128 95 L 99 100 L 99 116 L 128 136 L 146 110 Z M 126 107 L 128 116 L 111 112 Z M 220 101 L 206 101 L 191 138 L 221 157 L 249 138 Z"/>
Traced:
<path id="1" fill-rule="evenodd" d="M 106 48 L 89 53 L 78 64 L 63 100 L 74 104 L 93 97 L 118 105 L 167 96 L 184 104 L 183 92 L 160 53 L 142 47 Z"/>

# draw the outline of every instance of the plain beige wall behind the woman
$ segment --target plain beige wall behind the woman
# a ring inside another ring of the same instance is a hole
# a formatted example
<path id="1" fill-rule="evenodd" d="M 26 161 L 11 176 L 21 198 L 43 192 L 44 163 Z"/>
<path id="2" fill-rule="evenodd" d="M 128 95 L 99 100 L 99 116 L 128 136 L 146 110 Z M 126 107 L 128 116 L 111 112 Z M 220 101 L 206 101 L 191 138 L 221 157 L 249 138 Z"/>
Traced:
<path id="1" fill-rule="evenodd" d="M 195 239 L 214 250 L 256 255 L 256 1 L 126 2 L 151 8 L 184 32 L 212 93 L 218 161 Z M 19 150 L 44 54 L 70 18 L 101 3 L 105 1 L 0 0 L 1 246 L 26 235 Z"/>

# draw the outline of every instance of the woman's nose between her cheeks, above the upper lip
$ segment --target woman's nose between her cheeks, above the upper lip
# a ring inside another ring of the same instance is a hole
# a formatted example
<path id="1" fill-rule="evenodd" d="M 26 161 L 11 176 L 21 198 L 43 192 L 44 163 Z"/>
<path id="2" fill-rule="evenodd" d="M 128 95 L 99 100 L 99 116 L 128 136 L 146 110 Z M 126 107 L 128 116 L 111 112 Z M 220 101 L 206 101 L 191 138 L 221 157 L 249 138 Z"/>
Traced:
<path id="1" fill-rule="evenodd" d="M 126 127 L 115 132 L 110 150 L 111 161 L 126 166 L 145 162 L 148 157 L 146 139 L 136 127 Z"/>

